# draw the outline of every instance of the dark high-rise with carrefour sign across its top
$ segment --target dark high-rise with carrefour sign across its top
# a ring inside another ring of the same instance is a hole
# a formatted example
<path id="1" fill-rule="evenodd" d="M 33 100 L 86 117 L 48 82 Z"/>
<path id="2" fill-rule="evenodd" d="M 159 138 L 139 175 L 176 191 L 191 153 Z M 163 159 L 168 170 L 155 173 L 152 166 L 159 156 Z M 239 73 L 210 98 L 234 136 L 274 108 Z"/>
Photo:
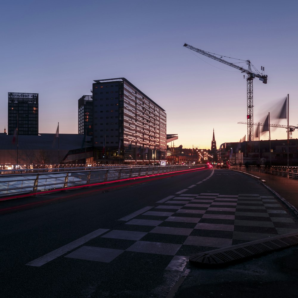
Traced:
<path id="1" fill-rule="evenodd" d="M 38 93 L 8 92 L 8 134 L 38 135 Z"/>

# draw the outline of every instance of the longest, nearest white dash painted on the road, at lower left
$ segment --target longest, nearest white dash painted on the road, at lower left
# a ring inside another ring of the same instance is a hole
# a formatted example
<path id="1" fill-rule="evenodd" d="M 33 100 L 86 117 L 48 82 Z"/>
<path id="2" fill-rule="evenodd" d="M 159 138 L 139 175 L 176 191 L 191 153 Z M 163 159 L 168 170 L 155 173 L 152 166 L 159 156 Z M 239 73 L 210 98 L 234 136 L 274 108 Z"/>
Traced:
<path id="1" fill-rule="evenodd" d="M 70 250 L 77 248 L 78 246 L 88 242 L 89 240 L 91 240 L 107 231 L 109 231 L 109 229 L 95 230 L 95 231 L 91 232 L 90 234 L 87 234 L 71 243 L 61 246 L 60 248 L 55 249 L 52 252 L 49 252 L 48 254 L 45 254 L 42 257 L 39 257 L 39 258 L 27 263 L 26 265 L 40 267 L 40 266 L 56 259 L 57 257 L 62 256 L 66 252 L 69 252 Z"/>

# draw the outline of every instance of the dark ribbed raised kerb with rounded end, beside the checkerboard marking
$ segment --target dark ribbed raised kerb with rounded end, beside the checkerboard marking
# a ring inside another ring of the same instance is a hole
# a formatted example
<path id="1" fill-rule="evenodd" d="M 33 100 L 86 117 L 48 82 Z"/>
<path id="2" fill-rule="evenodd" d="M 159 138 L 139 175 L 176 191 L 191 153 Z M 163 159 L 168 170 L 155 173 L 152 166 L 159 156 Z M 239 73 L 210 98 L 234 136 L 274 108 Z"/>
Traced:
<path id="1" fill-rule="evenodd" d="M 278 235 L 275 237 L 255 240 L 238 245 L 210 250 L 193 255 L 189 258 L 191 264 L 198 267 L 219 267 L 231 263 L 247 260 L 252 257 L 266 254 L 274 250 L 298 244 L 298 233 Z"/>

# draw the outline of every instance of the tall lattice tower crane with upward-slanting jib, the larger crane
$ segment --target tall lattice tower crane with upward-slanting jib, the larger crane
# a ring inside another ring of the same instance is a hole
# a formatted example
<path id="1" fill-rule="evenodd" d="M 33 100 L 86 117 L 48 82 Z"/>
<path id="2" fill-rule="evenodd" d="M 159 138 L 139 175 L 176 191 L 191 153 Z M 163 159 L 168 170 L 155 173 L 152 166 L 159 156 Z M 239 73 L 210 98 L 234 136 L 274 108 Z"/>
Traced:
<path id="1" fill-rule="evenodd" d="M 185 47 L 187 47 L 190 50 L 193 50 L 197 53 L 200 53 L 204 56 L 207 56 L 209 58 L 212 58 L 216 61 L 219 61 L 221 63 L 224 63 L 226 65 L 232 66 L 236 69 L 239 69 L 241 72 L 244 72 L 247 74 L 247 138 L 248 141 L 253 141 L 254 140 L 254 126 L 253 126 L 253 92 L 252 92 L 252 81 L 255 77 L 258 77 L 259 80 L 261 80 L 264 84 L 267 84 L 267 75 L 263 75 L 263 66 L 261 66 L 262 69 L 262 73 L 260 73 L 259 71 L 256 70 L 257 73 L 252 72 L 252 68 L 251 68 L 251 63 L 249 60 L 246 60 L 246 64 L 248 65 L 248 69 L 245 69 L 241 66 L 238 66 L 236 64 L 233 64 L 231 62 L 228 62 L 224 59 L 218 58 L 208 52 L 205 52 L 203 50 L 197 49 L 193 46 L 190 46 L 189 44 L 184 44 Z"/>

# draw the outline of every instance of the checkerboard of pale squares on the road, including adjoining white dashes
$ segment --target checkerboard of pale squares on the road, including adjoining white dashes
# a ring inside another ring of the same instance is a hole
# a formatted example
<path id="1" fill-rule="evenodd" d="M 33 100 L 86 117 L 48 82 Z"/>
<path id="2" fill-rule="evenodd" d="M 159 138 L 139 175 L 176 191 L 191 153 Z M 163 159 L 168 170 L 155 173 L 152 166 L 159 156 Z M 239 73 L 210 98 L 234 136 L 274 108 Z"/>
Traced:
<path id="1" fill-rule="evenodd" d="M 274 196 L 176 193 L 118 220 L 117 229 L 98 229 L 29 266 L 56 257 L 91 262 L 117 262 L 122 254 L 169 256 L 167 270 L 183 270 L 199 252 L 298 232 L 287 209 Z"/>

